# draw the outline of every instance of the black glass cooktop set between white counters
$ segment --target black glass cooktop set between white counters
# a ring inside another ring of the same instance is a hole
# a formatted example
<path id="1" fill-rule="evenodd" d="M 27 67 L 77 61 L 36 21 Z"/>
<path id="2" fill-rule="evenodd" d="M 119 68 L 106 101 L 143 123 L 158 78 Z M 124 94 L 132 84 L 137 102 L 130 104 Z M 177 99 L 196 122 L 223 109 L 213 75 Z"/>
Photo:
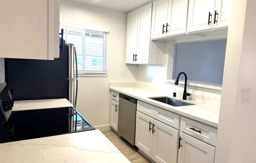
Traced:
<path id="1" fill-rule="evenodd" d="M 0 143 L 94 130 L 71 107 L 12 112 L 0 126 Z"/>

